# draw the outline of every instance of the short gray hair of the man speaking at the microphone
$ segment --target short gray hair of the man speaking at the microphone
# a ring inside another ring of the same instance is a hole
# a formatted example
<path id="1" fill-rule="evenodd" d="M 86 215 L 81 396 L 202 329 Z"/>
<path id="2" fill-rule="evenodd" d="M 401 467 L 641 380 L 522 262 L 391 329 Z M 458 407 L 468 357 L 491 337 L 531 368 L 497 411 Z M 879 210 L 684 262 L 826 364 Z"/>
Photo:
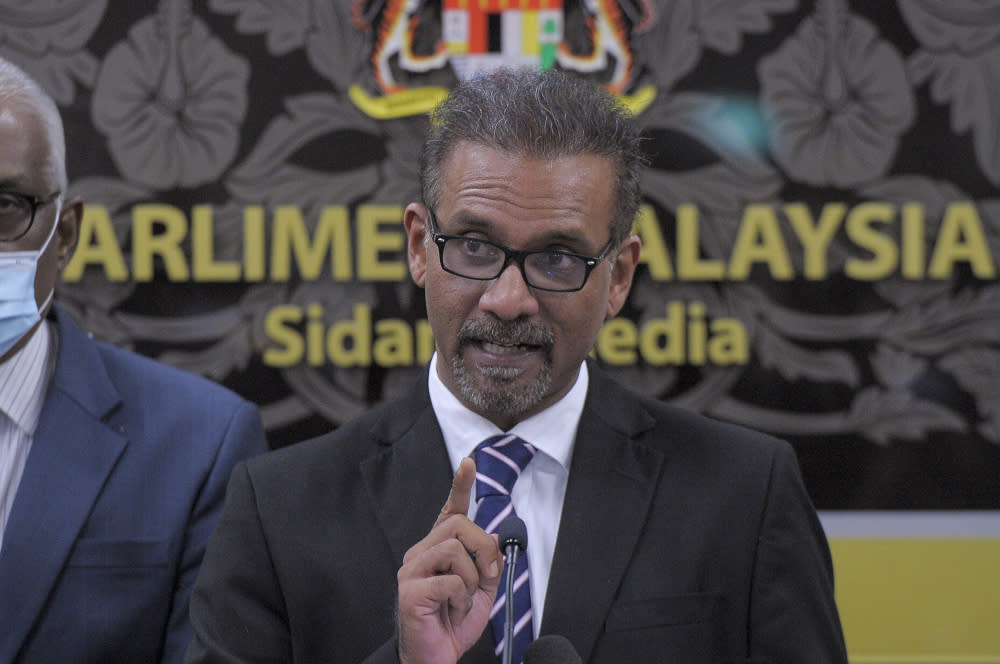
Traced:
<path id="1" fill-rule="evenodd" d="M 430 120 L 420 155 L 429 207 L 440 202 L 443 164 L 463 141 L 533 159 L 596 154 L 614 165 L 612 245 L 631 232 L 645 157 L 629 111 L 611 93 L 556 69 L 500 68 L 460 83 Z"/>

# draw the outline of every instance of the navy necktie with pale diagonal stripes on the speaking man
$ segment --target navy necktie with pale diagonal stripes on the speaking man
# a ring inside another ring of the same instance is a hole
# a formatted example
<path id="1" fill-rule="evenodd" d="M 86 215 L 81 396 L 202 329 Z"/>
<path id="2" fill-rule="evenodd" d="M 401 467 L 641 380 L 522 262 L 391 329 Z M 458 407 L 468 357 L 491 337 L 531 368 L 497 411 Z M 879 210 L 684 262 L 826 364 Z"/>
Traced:
<path id="1" fill-rule="evenodd" d="M 500 523 L 514 513 L 510 492 L 521 471 L 535 456 L 537 450 L 512 434 L 488 438 L 476 448 L 476 525 L 487 533 L 496 532 Z M 504 638 L 505 605 L 507 597 L 505 567 L 500 577 L 497 599 L 490 613 L 490 625 L 496 637 L 496 654 L 499 656 L 506 644 Z M 511 662 L 520 664 L 524 651 L 532 639 L 531 588 L 528 583 L 528 557 L 518 556 L 514 567 L 514 645 Z"/>

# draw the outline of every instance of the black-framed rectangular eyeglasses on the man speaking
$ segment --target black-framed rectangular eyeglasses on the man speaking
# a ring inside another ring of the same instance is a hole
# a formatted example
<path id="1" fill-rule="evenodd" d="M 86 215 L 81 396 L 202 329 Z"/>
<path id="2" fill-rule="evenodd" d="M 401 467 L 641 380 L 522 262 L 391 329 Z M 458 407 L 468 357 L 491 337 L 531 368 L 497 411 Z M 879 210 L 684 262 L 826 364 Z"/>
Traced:
<path id="1" fill-rule="evenodd" d="M 524 283 L 538 290 L 571 293 L 583 288 L 587 277 L 611 251 L 611 240 L 597 256 L 584 256 L 569 251 L 542 249 L 520 251 L 467 235 L 445 235 L 437 230 L 434 212 L 430 217 L 431 240 L 441 255 L 441 267 L 446 272 L 479 281 L 499 277 L 511 261 L 521 268 Z"/>

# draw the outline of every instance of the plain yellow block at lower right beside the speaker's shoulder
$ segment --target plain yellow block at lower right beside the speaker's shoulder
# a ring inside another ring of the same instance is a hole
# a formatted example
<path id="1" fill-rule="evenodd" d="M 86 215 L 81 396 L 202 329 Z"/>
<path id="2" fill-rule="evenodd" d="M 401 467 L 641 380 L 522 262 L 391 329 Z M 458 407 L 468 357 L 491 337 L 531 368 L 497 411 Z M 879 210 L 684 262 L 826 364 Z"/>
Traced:
<path id="1" fill-rule="evenodd" d="M 852 664 L 1000 664 L 1000 538 L 831 537 Z"/>

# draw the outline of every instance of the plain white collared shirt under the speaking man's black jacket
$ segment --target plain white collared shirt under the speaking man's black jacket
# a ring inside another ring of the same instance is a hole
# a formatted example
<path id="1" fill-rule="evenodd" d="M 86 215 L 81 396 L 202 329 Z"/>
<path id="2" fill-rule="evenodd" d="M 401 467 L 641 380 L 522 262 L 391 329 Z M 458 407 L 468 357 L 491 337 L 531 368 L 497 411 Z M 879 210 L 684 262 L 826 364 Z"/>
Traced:
<path id="1" fill-rule="evenodd" d="M 552 569 L 552 555 L 559 534 L 563 498 L 569 479 L 570 459 L 576 429 L 587 396 L 587 365 L 580 366 L 576 383 L 562 399 L 537 415 L 518 422 L 510 431 L 468 408 L 444 386 L 437 374 L 437 354 L 431 358 L 428 381 L 431 405 L 437 416 L 444 443 L 448 448 L 454 473 L 463 457 L 472 454 L 481 442 L 499 433 L 513 433 L 538 448 L 538 453 L 521 473 L 511 502 L 528 531 L 528 569 L 530 570 L 532 628 L 537 636 L 542 624 L 545 592 Z M 476 516 L 475 492 L 469 506 L 469 518 Z"/>

